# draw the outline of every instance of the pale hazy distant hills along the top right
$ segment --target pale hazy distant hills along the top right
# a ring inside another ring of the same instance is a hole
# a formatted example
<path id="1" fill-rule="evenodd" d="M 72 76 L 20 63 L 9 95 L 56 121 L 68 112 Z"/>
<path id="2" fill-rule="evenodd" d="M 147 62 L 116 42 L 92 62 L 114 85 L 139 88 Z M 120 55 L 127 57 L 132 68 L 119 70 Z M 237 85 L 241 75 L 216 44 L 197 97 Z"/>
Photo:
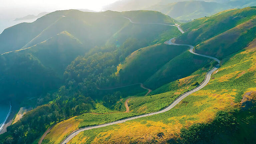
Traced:
<path id="1" fill-rule="evenodd" d="M 104 7 L 105 10 L 131 11 L 154 10 L 176 20 L 187 21 L 217 12 L 255 6 L 254 0 L 121 0 Z"/>

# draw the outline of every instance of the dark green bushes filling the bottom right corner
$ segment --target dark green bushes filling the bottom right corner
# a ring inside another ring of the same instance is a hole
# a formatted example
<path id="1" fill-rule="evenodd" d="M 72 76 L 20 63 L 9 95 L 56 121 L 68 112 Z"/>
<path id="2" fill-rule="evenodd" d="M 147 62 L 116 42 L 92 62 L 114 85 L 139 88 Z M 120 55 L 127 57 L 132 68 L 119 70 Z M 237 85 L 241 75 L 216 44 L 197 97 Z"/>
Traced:
<path id="1" fill-rule="evenodd" d="M 246 106 L 245 106 L 246 105 Z M 193 124 L 181 130 L 182 144 L 251 143 L 255 141 L 255 100 L 247 108 L 218 111 L 211 123 Z"/>

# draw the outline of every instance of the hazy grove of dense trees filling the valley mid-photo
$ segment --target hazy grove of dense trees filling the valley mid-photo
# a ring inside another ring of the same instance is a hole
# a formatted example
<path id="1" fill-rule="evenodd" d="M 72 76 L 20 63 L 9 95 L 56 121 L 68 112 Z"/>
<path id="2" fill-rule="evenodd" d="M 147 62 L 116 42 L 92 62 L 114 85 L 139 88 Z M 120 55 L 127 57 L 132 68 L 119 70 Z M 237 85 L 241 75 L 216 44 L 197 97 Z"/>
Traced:
<path id="1" fill-rule="evenodd" d="M 137 39 L 129 38 L 119 47 L 96 47 L 84 57 L 77 57 L 64 72 L 69 93 L 98 97 L 102 95 L 99 88 L 113 87 L 117 82 L 121 85 L 122 81 L 115 76 L 117 65 L 142 45 Z"/>

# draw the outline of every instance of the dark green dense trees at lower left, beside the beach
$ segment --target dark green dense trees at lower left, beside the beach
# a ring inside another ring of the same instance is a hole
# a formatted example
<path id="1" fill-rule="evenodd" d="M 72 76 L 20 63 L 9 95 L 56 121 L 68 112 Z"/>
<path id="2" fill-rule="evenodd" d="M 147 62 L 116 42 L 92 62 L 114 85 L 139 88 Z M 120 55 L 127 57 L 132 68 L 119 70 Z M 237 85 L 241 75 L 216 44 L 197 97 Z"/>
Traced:
<path id="1" fill-rule="evenodd" d="M 60 92 L 63 92 L 63 89 L 62 87 Z M 26 113 L 18 122 L 8 127 L 8 133 L 11 135 L 6 138 L 5 143 L 30 144 L 51 123 L 88 112 L 93 108 L 95 108 L 95 102 L 90 97 L 58 95 L 53 102 L 38 106 Z"/>

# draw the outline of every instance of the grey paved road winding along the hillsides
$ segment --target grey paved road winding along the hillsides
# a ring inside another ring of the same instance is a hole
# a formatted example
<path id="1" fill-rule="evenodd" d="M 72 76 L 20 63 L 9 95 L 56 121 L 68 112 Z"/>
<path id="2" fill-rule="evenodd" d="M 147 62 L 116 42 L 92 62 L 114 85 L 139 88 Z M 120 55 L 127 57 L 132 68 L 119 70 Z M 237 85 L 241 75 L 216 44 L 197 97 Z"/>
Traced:
<path id="1" fill-rule="evenodd" d="M 130 20 L 131 23 L 135 23 L 133 22 L 131 19 L 127 18 L 127 17 L 124 17 L 128 20 Z M 135 23 L 135 24 L 161 24 L 161 23 Z M 161 25 L 168 25 L 168 24 L 161 24 Z M 169 25 L 169 26 L 175 26 L 177 27 L 181 33 L 184 33 L 184 31 L 180 28 L 180 25 L 176 24 L 176 25 Z M 115 121 L 115 122 L 111 122 L 111 123 L 107 123 L 107 124 L 102 124 L 102 125 L 95 125 L 95 126 L 89 126 L 89 127 L 84 127 L 84 128 L 81 128 L 75 132 L 72 132 L 70 135 L 68 135 L 62 142 L 61 144 L 65 144 L 67 142 L 69 142 L 73 137 L 75 137 L 76 135 L 78 135 L 80 132 L 83 132 L 83 131 L 86 131 L 86 130 L 90 130 L 90 129 L 95 129 L 95 128 L 100 128 L 100 127 L 105 127 L 105 126 L 109 126 L 109 125 L 114 125 L 114 124 L 119 124 L 119 123 L 124 123 L 126 121 L 129 121 L 129 120 L 133 120 L 133 119 L 137 119 L 137 118 L 142 118 L 142 117 L 147 117 L 147 116 L 152 116 L 152 115 L 155 115 L 155 114 L 160 114 L 160 113 L 164 113 L 166 111 L 169 111 L 170 109 L 172 109 L 173 107 L 175 107 L 180 101 L 182 101 L 185 97 L 187 97 L 188 95 L 202 89 L 204 86 L 206 86 L 210 79 L 211 79 L 211 74 L 216 71 L 219 67 L 219 64 L 220 64 L 220 60 L 218 60 L 217 58 L 214 58 L 214 57 L 211 57 L 211 56 L 206 56 L 206 55 L 202 55 L 202 54 L 197 54 L 195 53 L 193 50 L 194 50 L 194 47 L 192 45 L 186 45 L 186 44 L 175 44 L 172 42 L 173 41 L 173 38 L 170 39 L 169 41 L 166 41 L 165 44 L 168 44 L 168 45 L 181 45 L 181 46 L 188 46 L 190 49 L 189 49 L 189 52 L 192 53 L 192 54 L 195 54 L 195 55 L 198 55 L 198 56 L 202 56 L 202 57 L 206 57 L 206 58 L 210 58 L 210 59 L 213 59 L 215 61 L 218 62 L 218 65 L 216 67 L 214 67 L 213 69 L 211 69 L 210 71 L 207 72 L 206 76 L 205 76 L 205 79 L 204 81 L 196 88 L 194 88 L 193 90 L 191 91 L 188 91 L 182 95 L 180 95 L 176 100 L 174 100 L 168 107 L 158 111 L 158 112 L 153 112 L 153 113 L 149 113 L 149 114 L 143 114 L 143 115 L 139 115 L 139 116 L 134 116 L 134 117 L 130 117 L 130 118 L 125 118 L 125 119 L 121 119 L 121 120 L 118 120 L 118 121 Z"/>

